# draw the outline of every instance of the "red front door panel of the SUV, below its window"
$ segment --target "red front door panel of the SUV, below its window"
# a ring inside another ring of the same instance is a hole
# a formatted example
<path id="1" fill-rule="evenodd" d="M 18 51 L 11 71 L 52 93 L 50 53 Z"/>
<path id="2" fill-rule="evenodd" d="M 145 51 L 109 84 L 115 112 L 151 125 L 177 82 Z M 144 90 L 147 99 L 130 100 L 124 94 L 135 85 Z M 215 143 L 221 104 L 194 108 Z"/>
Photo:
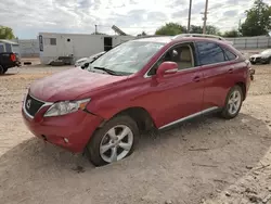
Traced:
<path id="1" fill-rule="evenodd" d="M 199 79 L 195 81 L 194 78 Z M 144 107 L 155 117 L 157 127 L 202 111 L 204 81 L 198 68 L 146 80 L 144 87 L 150 92 L 139 99 L 144 101 Z"/>

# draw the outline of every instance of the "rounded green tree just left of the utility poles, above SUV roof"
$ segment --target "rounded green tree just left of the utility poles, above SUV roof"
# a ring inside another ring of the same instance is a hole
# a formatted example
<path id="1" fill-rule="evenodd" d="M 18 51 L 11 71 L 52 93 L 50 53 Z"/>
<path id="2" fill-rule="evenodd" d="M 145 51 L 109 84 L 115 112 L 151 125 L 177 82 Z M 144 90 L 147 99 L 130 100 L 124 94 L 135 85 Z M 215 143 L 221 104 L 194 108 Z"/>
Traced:
<path id="1" fill-rule="evenodd" d="M 167 23 L 166 25 L 159 27 L 155 31 L 155 35 L 175 36 L 175 35 L 183 34 L 183 33 L 186 33 L 185 26 L 179 25 L 177 23 Z"/>

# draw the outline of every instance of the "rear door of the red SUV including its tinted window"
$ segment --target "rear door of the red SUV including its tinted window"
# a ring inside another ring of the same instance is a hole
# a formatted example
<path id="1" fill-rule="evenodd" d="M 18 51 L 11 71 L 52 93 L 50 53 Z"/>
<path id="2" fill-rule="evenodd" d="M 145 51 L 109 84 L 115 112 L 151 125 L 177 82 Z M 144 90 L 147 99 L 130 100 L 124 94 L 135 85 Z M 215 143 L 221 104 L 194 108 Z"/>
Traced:
<path id="1" fill-rule="evenodd" d="M 204 75 L 203 109 L 221 107 L 224 105 L 228 91 L 234 86 L 233 73 L 236 55 L 227 54 L 218 43 L 212 41 L 197 41 L 195 44 Z"/>

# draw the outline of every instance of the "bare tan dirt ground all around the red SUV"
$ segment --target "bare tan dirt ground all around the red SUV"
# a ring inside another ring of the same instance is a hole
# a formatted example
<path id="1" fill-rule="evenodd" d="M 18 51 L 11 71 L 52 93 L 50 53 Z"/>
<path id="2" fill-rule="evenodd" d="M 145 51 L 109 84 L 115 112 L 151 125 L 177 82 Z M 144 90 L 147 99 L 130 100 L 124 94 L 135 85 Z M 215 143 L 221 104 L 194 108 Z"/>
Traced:
<path id="1" fill-rule="evenodd" d="M 43 143 L 22 120 L 29 84 L 68 67 L 11 69 L 0 77 L 0 203 L 270 202 L 271 65 L 254 67 L 255 81 L 238 117 L 206 116 L 142 136 L 131 156 L 99 168 Z"/>

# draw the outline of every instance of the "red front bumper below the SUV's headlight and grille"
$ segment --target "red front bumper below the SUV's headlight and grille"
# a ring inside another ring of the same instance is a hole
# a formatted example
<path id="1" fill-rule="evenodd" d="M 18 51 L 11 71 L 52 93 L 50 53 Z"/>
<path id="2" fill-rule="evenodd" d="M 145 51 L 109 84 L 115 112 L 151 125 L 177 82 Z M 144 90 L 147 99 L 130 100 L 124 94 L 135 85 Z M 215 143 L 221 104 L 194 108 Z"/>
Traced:
<path id="1" fill-rule="evenodd" d="M 90 137 L 103 119 L 78 111 L 57 117 L 29 118 L 22 109 L 25 125 L 36 137 L 74 153 L 82 152 Z"/>

